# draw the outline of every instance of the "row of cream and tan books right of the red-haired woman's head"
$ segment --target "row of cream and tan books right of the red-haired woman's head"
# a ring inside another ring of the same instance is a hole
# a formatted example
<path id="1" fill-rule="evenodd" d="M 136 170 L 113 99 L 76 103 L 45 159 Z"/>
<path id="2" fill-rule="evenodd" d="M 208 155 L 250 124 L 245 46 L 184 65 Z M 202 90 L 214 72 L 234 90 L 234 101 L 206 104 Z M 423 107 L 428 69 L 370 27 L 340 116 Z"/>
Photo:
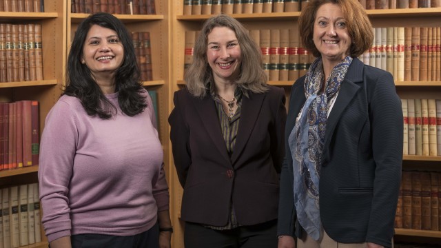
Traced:
<path id="1" fill-rule="evenodd" d="M 374 28 L 360 60 L 391 72 L 396 81 L 441 80 L 441 27 Z"/>

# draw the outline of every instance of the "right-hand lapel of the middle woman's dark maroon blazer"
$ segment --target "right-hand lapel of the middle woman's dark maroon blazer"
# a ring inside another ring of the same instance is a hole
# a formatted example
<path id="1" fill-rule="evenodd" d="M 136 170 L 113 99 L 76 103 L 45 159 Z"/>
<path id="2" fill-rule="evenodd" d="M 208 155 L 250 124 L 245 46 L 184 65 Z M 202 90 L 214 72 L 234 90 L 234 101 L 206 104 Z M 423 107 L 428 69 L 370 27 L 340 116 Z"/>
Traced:
<path id="1" fill-rule="evenodd" d="M 265 94 L 249 94 L 249 98 L 245 95 L 242 97 L 242 106 L 240 110 L 240 123 L 236 136 L 236 145 L 232 154 L 232 163 L 234 164 L 242 153 L 248 142 L 249 136 L 252 134 L 254 124 L 256 123 L 260 109 L 262 107 Z"/>

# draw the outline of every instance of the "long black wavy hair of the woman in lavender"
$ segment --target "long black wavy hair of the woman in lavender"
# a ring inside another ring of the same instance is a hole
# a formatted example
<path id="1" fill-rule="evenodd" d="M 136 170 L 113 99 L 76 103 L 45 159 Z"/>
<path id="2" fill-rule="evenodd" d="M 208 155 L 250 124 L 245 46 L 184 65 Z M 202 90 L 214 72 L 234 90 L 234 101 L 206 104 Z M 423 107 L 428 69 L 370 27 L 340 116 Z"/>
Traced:
<path id="1" fill-rule="evenodd" d="M 84 19 L 76 29 L 66 65 L 66 87 L 63 94 L 74 96 L 81 101 L 84 110 L 90 116 L 108 119 L 116 114 L 116 107 L 104 96 L 99 85 L 93 79 L 89 68 L 81 63 L 85 38 L 92 25 L 114 30 L 123 44 L 123 63 L 115 72 L 116 92 L 119 92 L 118 103 L 127 116 L 143 112 L 147 107 L 141 72 L 136 63 L 136 55 L 130 33 L 125 25 L 112 14 L 98 12 Z"/>

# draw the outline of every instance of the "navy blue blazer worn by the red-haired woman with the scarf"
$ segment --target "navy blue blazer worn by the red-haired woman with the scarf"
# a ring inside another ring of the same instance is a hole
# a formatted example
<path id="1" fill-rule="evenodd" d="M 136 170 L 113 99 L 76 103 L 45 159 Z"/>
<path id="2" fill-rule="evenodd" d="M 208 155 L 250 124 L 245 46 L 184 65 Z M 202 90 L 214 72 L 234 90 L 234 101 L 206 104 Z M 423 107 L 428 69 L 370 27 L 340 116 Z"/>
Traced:
<path id="1" fill-rule="evenodd" d="M 278 235 L 300 236 L 304 231 L 296 222 L 287 144 L 306 101 L 304 81 L 302 76 L 291 88 Z M 391 246 L 401 180 L 402 120 L 392 75 L 354 58 L 327 120 L 320 167 L 320 218 L 332 239 Z"/>

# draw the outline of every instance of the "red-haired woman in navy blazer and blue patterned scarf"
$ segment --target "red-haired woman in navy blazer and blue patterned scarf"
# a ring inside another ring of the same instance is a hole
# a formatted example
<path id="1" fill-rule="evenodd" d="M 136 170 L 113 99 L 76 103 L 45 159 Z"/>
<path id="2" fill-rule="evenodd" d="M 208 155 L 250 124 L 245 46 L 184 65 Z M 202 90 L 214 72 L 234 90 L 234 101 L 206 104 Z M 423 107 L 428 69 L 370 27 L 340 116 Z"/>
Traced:
<path id="1" fill-rule="evenodd" d="M 357 59 L 369 18 L 357 0 L 311 0 L 298 22 L 317 59 L 291 88 L 278 247 L 391 247 L 402 110 L 392 75 Z"/>

